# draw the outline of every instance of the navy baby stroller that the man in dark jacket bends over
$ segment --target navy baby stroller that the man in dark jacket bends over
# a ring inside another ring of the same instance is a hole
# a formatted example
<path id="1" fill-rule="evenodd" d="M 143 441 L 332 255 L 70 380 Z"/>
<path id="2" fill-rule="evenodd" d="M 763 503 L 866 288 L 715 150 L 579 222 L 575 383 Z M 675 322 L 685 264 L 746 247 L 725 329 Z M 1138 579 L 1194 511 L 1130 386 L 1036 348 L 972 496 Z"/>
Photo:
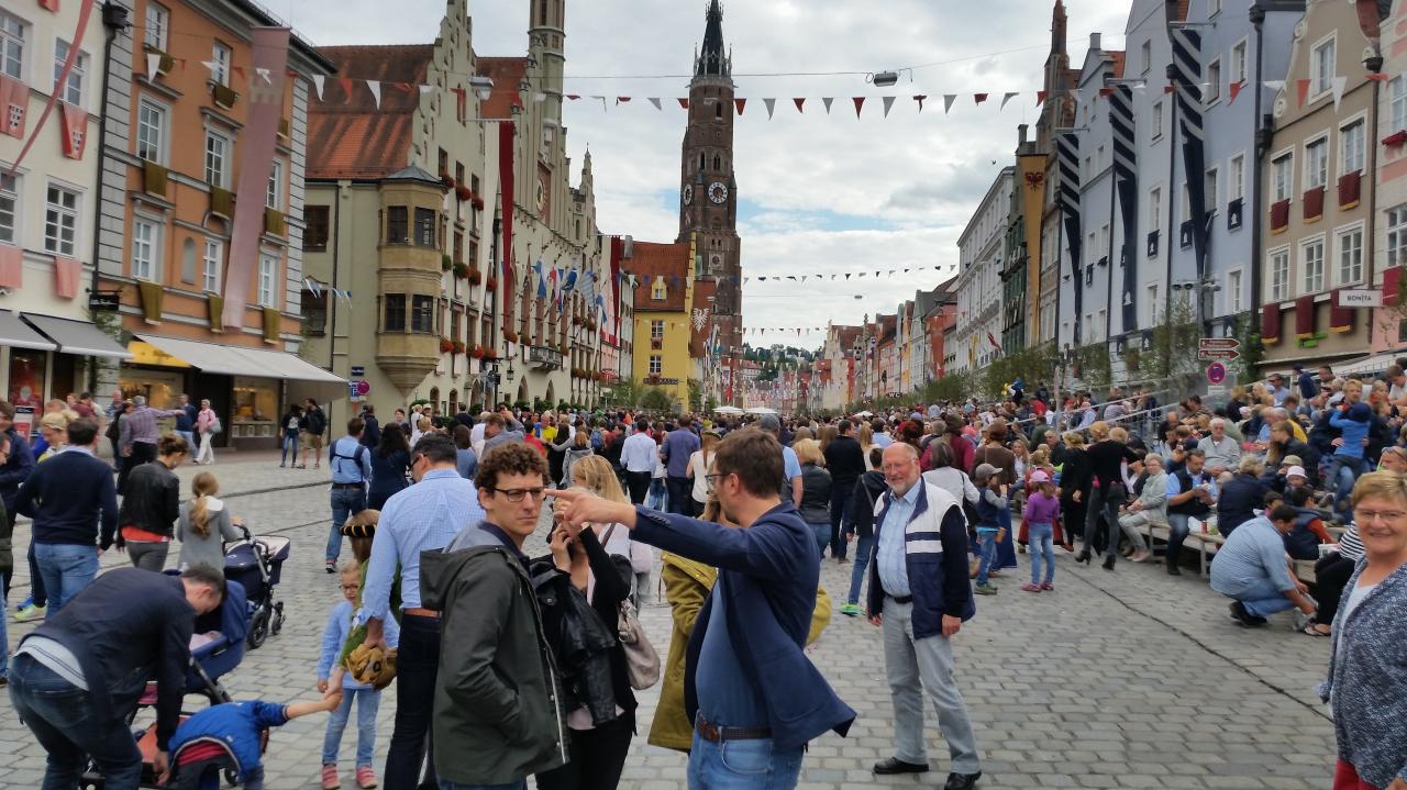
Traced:
<path id="1" fill-rule="evenodd" d="M 186 669 L 186 682 L 182 694 L 200 694 L 210 704 L 232 701 L 229 692 L 219 683 L 219 679 L 245 656 L 245 640 L 249 635 L 249 602 L 245 588 L 239 582 L 227 581 L 225 600 L 219 607 L 208 614 L 196 619 L 193 642 L 190 652 L 190 666 Z M 212 638 L 211 638 L 212 637 Z M 201 641 L 201 638 L 204 638 Z M 138 713 L 145 707 L 156 706 L 156 683 L 146 685 L 146 693 L 136 703 L 136 708 L 128 715 L 128 725 L 136 720 Z M 146 728 L 132 731 L 136 748 L 142 752 L 142 787 L 159 787 L 156 784 L 156 723 Z M 176 755 L 170 756 L 172 765 Z M 84 790 L 103 787 L 103 776 L 96 763 L 90 763 L 79 783 Z"/>

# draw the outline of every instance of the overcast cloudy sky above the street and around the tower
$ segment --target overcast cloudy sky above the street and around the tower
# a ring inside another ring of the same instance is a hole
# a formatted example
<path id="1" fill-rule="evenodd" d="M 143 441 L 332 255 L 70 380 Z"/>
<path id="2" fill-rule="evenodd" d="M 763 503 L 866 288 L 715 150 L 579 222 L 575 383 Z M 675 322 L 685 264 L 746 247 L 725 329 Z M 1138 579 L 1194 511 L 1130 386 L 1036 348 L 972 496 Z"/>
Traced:
<path id="1" fill-rule="evenodd" d="M 1050 44 L 1054 0 L 767 0 L 725 1 L 723 37 L 733 51 L 737 94 L 749 98 L 736 124 L 739 235 L 743 239 L 744 322 L 794 328 L 858 323 L 893 312 L 919 288 L 951 276 L 957 239 L 1002 166 L 1012 163 L 1017 124 L 1038 115 L 1036 90 Z M 522 55 L 528 1 L 470 1 L 474 51 Z M 705 0 L 567 0 L 566 93 L 633 96 L 602 111 L 568 101 L 573 181 L 591 148 L 597 218 L 605 233 L 671 242 L 678 233 L 680 145 Z M 1089 34 L 1123 46 L 1127 3 L 1067 0 L 1071 63 Z M 418 44 L 439 32 L 445 6 L 433 0 L 272 0 L 317 45 Z M 798 72 L 878 72 L 926 63 L 893 89 L 865 77 L 747 76 Z M 355 76 L 355 75 L 349 75 Z M 606 77 L 606 79 L 601 79 Z M 639 79 L 650 77 L 650 79 Z M 1002 94 L 1020 91 L 998 112 Z M 944 93 L 960 98 L 943 114 Z M 974 93 L 992 98 L 975 107 Z M 884 96 L 896 96 L 888 118 Z M 922 114 L 913 94 L 927 94 Z M 834 97 L 827 117 L 820 97 Z M 857 119 L 851 97 L 864 96 Z M 657 111 L 647 97 L 666 100 Z M 763 98 L 775 97 L 768 121 Z M 792 97 L 808 97 L 798 115 Z M 944 266 L 934 271 L 934 266 Z M 917 268 L 923 271 L 917 271 Z M 915 268 L 872 280 L 874 270 Z M 868 271 L 844 283 L 832 273 Z M 823 274 L 805 285 L 771 277 Z M 757 280 L 768 277 L 767 283 Z M 862 298 L 855 299 L 855 295 Z M 813 347 L 822 335 L 747 335 L 749 343 Z"/>

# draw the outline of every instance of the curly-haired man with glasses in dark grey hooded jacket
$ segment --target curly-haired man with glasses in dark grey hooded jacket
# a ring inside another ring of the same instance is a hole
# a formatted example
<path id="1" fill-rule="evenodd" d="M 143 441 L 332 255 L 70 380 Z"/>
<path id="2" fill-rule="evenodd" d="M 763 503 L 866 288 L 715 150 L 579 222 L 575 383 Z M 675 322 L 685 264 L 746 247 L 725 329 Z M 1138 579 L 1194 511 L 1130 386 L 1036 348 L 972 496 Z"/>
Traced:
<path id="1" fill-rule="evenodd" d="M 433 699 L 440 790 L 519 790 L 529 773 L 560 768 L 568 756 L 561 685 L 523 554 L 542 516 L 547 462 L 526 444 L 508 444 L 488 453 L 477 482 L 483 509 L 443 552 L 426 551 L 421 559 L 421 592 L 426 606 L 443 613 L 445 633 L 438 680 L 415 699 Z M 402 656 L 405 640 L 402 630 Z M 398 682 L 404 673 L 402 658 Z M 398 689 L 401 706 L 402 694 Z M 400 723 L 397 711 L 395 737 Z M 388 780 L 387 787 L 409 784 Z"/>

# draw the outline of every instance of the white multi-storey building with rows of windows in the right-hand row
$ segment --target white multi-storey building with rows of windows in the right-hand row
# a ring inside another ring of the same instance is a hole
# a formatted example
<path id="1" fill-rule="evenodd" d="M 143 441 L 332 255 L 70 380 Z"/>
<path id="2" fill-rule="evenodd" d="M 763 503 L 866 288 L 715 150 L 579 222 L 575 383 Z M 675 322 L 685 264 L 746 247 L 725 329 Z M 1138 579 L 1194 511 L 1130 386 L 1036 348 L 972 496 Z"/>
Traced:
<path id="1" fill-rule="evenodd" d="M 1002 169 L 958 238 L 957 358 L 951 373 L 979 370 L 1002 351 L 1002 245 L 1014 179 L 1014 166 Z"/>

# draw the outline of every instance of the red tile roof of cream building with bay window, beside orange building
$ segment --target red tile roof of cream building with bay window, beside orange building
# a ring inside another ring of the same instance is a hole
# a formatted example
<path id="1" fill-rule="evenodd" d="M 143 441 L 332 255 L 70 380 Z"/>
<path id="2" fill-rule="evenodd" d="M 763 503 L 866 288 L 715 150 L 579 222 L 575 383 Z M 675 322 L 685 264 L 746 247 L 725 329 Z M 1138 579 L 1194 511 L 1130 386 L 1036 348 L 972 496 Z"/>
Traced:
<path id="1" fill-rule="evenodd" d="M 322 46 L 350 94 L 328 80 L 308 112 L 308 179 L 381 179 L 409 163 L 416 86 L 425 84 L 435 45 Z M 381 107 L 360 80 L 381 83 Z M 404 87 L 402 87 L 404 86 Z"/>

